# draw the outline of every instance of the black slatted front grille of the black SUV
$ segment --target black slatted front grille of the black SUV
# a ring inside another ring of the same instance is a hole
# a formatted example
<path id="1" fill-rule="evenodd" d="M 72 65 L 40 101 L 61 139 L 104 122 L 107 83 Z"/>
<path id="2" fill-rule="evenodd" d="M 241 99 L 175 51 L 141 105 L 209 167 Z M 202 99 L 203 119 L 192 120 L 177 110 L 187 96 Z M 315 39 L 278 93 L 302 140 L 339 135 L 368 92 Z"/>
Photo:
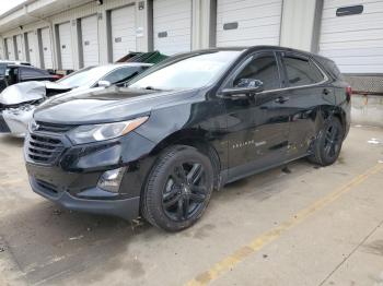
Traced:
<path id="1" fill-rule="evenodd" d="M 26 144 L 27 156 L 42 164 L 53 164 L 63 151 L 61 140 L 47 135 L 31 134 Z"/>

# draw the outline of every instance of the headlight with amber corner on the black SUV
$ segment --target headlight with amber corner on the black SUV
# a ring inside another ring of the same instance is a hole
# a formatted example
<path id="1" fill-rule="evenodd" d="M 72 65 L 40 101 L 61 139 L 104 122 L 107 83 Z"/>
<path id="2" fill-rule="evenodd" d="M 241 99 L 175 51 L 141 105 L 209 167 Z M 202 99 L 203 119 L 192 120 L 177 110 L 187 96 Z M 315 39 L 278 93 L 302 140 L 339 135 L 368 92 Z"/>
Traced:
<path id="1" fill-rule="evenodd" d="M 105 124 L 81 126 L 68 133 L 74 144 L 84 144 L 95 141 L 123 136 L 135 130 L 148 120 L 149 117 L 140 117 L 129 121 L 120 121 Z"/>

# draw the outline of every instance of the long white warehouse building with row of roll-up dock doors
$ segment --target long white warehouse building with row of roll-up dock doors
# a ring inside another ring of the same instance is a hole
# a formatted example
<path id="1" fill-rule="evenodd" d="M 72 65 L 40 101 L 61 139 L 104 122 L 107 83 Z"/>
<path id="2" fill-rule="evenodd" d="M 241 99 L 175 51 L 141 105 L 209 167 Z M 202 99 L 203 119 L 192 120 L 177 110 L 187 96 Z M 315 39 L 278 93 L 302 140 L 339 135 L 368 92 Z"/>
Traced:
<path id="1" fill-rule="evenodd" d="M 129 51 L 281 45 L 378 84 L 383 74 L 383 0 L 27 0 L 0 16 L 0 58 L 55 70 Z"/>

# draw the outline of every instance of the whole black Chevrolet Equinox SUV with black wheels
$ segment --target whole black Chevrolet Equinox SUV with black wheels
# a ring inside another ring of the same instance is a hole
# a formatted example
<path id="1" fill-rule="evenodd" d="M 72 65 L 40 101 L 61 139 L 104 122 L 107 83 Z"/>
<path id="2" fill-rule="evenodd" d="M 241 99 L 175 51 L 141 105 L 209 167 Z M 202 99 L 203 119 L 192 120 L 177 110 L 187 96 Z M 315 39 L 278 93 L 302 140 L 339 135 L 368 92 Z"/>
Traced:
<path id="1" fill-rule="evenodd" d="M 350 95 L 332 60 L 304 51 L 178 55 L 128 87 L 37 109 L 24 147 L 31 186 L 70 210 L 181 230 L 228 182 L 301 157 L 333 164 Z"/>

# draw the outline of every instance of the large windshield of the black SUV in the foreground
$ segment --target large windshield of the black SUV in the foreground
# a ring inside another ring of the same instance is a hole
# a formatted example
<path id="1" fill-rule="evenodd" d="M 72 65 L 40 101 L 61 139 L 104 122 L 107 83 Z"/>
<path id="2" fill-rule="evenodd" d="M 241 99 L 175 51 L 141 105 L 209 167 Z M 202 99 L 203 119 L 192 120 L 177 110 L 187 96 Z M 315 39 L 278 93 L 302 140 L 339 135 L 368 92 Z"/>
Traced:
<path id="1" fill-rule="evenodd" d="M 217 80 L 241 53 L 239 50 L 193 55 L 156 70 L 149 70 L 131 81 L 131 88 L 189 90 Z"/>

